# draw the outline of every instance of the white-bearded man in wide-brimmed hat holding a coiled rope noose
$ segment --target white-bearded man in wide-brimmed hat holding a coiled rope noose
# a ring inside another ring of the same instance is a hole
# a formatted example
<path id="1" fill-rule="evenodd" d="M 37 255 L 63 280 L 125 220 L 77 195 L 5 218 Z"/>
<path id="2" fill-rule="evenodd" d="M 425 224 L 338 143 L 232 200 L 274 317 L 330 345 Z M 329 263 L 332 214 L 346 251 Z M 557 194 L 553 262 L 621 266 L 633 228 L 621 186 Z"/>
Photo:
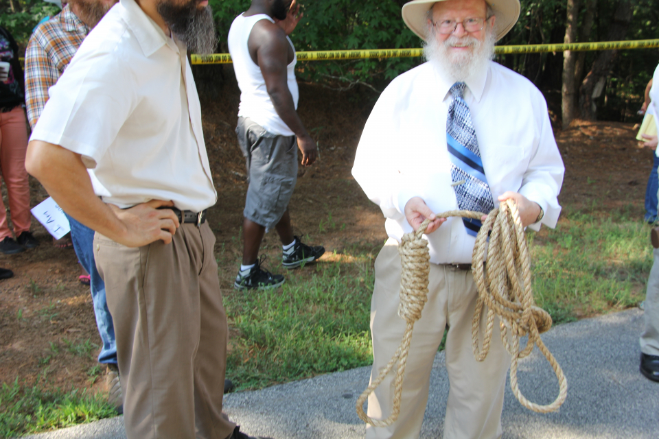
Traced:
<path id="1" fill-rule="evenodd" d="M 524 226 L 538 230 L 540 224 L 557 222 L 564 166 L 546 102 L 529 80 L 492 62 L 494 43 L 513 27 L 519 12 L 518 0 L 414 0 L 403 6 L 406 25 L 426 40 L 428 62 L 400 75 L 382 93 L 352 170 L 382 209 L 389 235 L 375 260 L 371 379 L 395 353 L 405 329 L 397 316 L 397 246 L 426 218 L 432 220 L 424 235 L 430 248 L 429 293 L 414 327 L 400 416 L 390 427 L 368 426 L 369 439 L 419 436 L 430 370 L 445 329 L 450 391 L 443 437 L 502 434 L 510 356 L 498 334 L 485 361 L 476 361 L 472 353 L 478 292 L 471 260 L 481 222 L 436 214 L 453 209 L 488 213 L 512 199 Z M 371 418 L 391 414 L 393 392 L 389 375 L 369 397 Z"/>

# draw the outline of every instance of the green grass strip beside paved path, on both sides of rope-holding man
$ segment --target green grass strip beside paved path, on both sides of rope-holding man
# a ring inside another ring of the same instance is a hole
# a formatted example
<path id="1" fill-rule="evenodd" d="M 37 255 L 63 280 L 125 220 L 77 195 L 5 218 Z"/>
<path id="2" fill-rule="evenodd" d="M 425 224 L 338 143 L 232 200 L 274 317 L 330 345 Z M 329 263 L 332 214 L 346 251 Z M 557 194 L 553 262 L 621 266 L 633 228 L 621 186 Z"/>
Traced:
<path id="1" fill-rule="evenodd" d="M 527 234 L 535 301 L 555 324 L 642 300 L 652 251 L 649 227 L 637 217 L 629 209 L 606 215 L 566 212 L 557 228 Z M 281 289 L 232 292 L 224 298 L 236 331 L 227 376 L 237 390 L 372 363 L 372 257 L 354 252 L 357 257 L 285 273 Z"/>

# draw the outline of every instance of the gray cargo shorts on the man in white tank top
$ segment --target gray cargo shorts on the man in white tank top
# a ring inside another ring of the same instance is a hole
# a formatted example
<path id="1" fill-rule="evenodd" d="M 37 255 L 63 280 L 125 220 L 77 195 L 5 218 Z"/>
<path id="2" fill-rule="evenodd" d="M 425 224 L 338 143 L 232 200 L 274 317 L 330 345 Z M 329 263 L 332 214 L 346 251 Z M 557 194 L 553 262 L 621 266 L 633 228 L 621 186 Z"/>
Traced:
<path id="1" fill-rule="evenodd" d="M 297 182 L 295 136 L 277 136 L 248 117 L 238 118 L 238 145 L 245 156 L 249 187 L 244 216 L 273 228 L 288 209 Z"/>

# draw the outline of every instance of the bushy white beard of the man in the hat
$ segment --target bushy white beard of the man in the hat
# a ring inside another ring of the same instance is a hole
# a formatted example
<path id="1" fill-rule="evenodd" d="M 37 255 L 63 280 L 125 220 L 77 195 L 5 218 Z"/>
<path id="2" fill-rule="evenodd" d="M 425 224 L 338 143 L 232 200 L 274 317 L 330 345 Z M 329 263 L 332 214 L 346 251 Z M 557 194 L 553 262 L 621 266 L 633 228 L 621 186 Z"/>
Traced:
<path id="1" fill-rule="evenodd" d="M 451 82 L 464 82 L 472 73 L 483 71 L 494 58 L 494 43 L 496 36 L 492 30 L 487 30 L 485 40 L 467 34 L 463 38 L 449 36 L 443 43 L 437 40 L 435 27 L 428 29 L 427 42 L 424 44 L 424 57 L 432 62 L 444 78 Z M 454 45 L 471 46 L 473 50 L 464 54 L 451 53 Z"/>

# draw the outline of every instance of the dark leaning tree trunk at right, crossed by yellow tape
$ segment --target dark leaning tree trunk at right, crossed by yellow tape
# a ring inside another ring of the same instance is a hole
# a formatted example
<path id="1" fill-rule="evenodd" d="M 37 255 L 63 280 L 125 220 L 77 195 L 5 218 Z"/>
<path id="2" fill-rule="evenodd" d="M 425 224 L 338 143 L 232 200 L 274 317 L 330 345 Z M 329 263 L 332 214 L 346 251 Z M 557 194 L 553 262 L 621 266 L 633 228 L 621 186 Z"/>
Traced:
<path id="1" fill-rule="evenodd" d="M 619 41 L 625 39 L 630 21 L 632 21 L 632 5 L 629 3 L 629 0 L 620 0 L 609 27 L 606 40 Z M 595 99 L 601 96 L 606 78 L 617 55 L 617 50 L 604 50 L 600 52 L 597 58 L 595 58 L 595 62 L 592 63 L 592 68 L 581 83 L 579 90 L 579 113 L 581 119 L 588 121 L 597 120 Z"/>

